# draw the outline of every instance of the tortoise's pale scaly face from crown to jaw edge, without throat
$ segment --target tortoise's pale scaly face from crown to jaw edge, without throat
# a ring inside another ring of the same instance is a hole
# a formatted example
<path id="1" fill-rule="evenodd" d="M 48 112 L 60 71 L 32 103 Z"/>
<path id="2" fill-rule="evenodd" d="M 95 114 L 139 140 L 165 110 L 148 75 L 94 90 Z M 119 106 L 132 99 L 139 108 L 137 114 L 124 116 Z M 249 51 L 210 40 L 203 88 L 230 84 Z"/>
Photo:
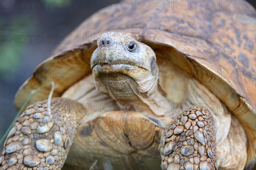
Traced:
<path id="1" fill-rule="evenodd" d="M 122 73 L 134 81 L 157 75 L 154 51 L 144 43 L 118 32 L 106 32 L 97 40 L 91 68 L 97 76 Z"/>

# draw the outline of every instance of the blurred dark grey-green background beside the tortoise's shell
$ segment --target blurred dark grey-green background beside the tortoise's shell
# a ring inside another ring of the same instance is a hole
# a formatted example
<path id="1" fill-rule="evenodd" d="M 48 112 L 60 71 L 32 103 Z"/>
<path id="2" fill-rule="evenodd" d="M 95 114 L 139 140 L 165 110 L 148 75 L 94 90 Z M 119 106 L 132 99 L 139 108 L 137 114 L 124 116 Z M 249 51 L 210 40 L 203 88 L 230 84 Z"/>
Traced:
<path id="1" fill-rule="evenodd" d="M 0 137 L 17 114 L 15 93 L 35 67 L 84 19 L 118 1 L 0 1 Z"/>

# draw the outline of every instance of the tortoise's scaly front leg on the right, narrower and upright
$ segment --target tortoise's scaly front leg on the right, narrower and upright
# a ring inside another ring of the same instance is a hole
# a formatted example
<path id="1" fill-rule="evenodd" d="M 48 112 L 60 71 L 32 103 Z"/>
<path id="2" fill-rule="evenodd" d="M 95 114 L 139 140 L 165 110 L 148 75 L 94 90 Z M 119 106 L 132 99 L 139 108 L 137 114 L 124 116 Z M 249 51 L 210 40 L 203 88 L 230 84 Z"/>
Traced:
<path id="1" fill-rule="evenodd" d="M 217 170 L 215 123 L 210 112 L 193 107 L 169 124 L 159 151 L 163 170 Z"/>

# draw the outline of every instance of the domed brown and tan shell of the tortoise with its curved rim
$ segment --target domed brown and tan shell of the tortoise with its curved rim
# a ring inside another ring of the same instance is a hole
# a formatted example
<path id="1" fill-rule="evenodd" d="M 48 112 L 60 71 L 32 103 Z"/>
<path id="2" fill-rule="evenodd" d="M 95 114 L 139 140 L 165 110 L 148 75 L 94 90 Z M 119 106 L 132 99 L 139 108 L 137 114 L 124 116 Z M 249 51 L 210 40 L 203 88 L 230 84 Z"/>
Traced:
<path id="1" fill-rule="evenodd" d="M 174 6 L 171 0 L 137 1 L 136 7 L 132 4 L 134 1 L 125 2 L 129 2 L 126 10 L 120 5 L 117 8 L 112 6 L 81 23 L 53 52 L 52 57 L 41 63 L 34 75 L 20 87 L 15 103 L 24 103 L 33 89 L 49 81 L 58 85 L 54 96 L 61 96 L 72 84 L 91 74 L 90 57 L 96 49 L 95 37 L 98 38 L 104 32 L 122 32 L 137 37 L 137 40 L 148 44 L 153 50 L 161 48 L 161 52 L 175 66 L 190 72 L 225 103 L 239 118 L 249 138 L 247 166 L 254 164 L 255 9 L 242 0 L 225 1 L 227 3 L 222 4 L 221 10 L 217 3 L 214 9 L 207 9 L 203 5 L 202 9 L 198 6 L 194 10 L 186 10 L 185 7 L 180 9 L 180 6 Z M 207 43 L 204 38 L 202 41 L 198 39 L 196 43 L 175 40 L 175 36 L 181 35 L 211 35 L 214 42 Z M 221 42 L 219 36 L 222 37 Z M 29 103 L 46 99 L 49 90 L 45 88 L 33 95 Z"/>

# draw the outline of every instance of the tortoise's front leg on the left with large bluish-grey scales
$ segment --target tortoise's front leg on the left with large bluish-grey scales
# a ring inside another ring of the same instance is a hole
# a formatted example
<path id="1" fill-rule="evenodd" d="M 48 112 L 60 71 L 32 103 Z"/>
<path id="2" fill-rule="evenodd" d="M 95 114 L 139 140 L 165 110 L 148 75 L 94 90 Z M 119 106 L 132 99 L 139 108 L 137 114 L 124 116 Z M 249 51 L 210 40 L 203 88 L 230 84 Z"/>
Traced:
<path id="1" fill-rule="evenodd" d="M 84 113 L 81 104 L 65 98 L 52 98 L 51 112 L 47 101 L 27 107 L 7 136 L 0 169 L 61 169 Z"/>

